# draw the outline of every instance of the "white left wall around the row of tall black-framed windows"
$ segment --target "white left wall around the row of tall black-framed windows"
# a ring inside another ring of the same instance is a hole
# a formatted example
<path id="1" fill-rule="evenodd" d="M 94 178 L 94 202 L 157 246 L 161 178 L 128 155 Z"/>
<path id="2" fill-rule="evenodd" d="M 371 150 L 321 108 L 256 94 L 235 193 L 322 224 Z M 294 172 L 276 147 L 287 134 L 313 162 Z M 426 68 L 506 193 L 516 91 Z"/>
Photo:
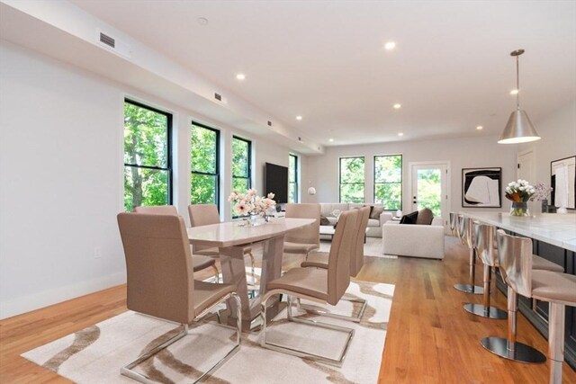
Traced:
<path id="1" fill-rule="evenodd" d="M 260 164 L 288 162 L 287 147 L 12 43 L 0 41 L 0 59 L 2 318 L 125 281 L 116 224 L 125 96 L 174 113 L 174 199 L 186 220 L 192 119 L 221 129 L 228 143 L 232 134 L 253 139 L 257 188 Z M 229 167 L 223 174 L 229 180 Z M 229 183 L 221 184 L 225 199 Z M 228 204 L 225 210 L 229 218 Z M 95 247 L 102 257 L 94 258 Z"/>

